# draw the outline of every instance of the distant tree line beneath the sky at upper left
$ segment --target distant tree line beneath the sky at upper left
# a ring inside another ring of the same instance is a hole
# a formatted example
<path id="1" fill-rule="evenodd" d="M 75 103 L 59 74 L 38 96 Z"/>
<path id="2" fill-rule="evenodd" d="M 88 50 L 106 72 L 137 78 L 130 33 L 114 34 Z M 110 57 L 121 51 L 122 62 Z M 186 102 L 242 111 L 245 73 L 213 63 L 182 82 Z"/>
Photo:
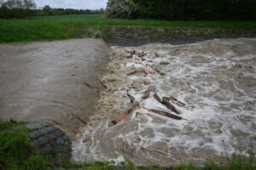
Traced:
<path id="1" fill-rule="evenodd" d="M 102 14 L 99 10 L 73 9 L 73 8 L 50 8 L 45 5 L 37 9 L 32 0 L 0 0 L 0 19 L 26 18 L 32 16 L 67 15 L 67 14 Z"/>

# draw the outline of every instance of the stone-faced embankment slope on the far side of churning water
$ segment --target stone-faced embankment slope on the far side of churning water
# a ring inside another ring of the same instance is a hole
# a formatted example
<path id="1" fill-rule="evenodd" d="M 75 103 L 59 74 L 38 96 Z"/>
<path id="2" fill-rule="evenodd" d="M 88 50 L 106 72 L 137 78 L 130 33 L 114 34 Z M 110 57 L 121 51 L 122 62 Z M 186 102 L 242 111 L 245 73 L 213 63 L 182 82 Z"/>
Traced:
<path id="1" fill-rule="evenodd" d="M 96 28 L 92 37 L 103 37 L 111 45 L 140 46 L 161 42 L 186 44 L 214 38 L 256 37 L 256 30 L 217 29 L 217 28 L 181 28 L 163 26 L 102 26 Z"/>

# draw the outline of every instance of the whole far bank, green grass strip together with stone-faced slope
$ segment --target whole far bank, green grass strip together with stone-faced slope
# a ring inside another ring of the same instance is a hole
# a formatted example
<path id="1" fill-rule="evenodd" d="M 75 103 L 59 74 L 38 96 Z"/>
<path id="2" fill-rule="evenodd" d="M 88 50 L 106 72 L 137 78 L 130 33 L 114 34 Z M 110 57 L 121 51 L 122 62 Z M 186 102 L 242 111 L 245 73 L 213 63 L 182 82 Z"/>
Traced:
<path id="1" fill-rule="evenodd" d="M 102 14 L 60 15 L 0 20 L 0 43 L 82 37 L 103 37 L 118 44 L 128 43 L 127 39 L 137 42 L 137 38 L 141 42 L 182 42 L 188 37 L 188 42 L 195 42 L 214 37 L 255 37 L 255 30 L 253 21 L 125 20 L 106 19 Z M 193 41 L 191 37 L 195 37 Z"/>

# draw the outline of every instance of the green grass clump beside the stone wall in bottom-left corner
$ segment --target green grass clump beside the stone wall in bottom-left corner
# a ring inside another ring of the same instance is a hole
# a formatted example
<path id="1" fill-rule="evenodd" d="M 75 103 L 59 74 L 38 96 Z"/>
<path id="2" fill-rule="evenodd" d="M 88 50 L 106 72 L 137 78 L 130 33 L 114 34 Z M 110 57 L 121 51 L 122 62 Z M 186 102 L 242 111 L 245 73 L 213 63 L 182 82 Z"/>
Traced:
<path id="1" fill-rule="evenodd" d="M 0 170 L 47 170 L 40 150 L 34 150 L 20 122 L 0 120 Z"/>

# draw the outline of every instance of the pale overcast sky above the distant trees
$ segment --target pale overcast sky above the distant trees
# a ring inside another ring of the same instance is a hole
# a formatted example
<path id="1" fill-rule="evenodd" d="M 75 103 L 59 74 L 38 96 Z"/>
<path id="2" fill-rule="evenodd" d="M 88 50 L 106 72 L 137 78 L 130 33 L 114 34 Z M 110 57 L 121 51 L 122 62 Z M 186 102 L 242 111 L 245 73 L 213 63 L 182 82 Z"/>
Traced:
<path id="1" fill-rule="evenodd" d="M 49 5 L 51 8 L 99 9 L 106 8 L 108 0 L 34 0 L 38 8 Z"/>

